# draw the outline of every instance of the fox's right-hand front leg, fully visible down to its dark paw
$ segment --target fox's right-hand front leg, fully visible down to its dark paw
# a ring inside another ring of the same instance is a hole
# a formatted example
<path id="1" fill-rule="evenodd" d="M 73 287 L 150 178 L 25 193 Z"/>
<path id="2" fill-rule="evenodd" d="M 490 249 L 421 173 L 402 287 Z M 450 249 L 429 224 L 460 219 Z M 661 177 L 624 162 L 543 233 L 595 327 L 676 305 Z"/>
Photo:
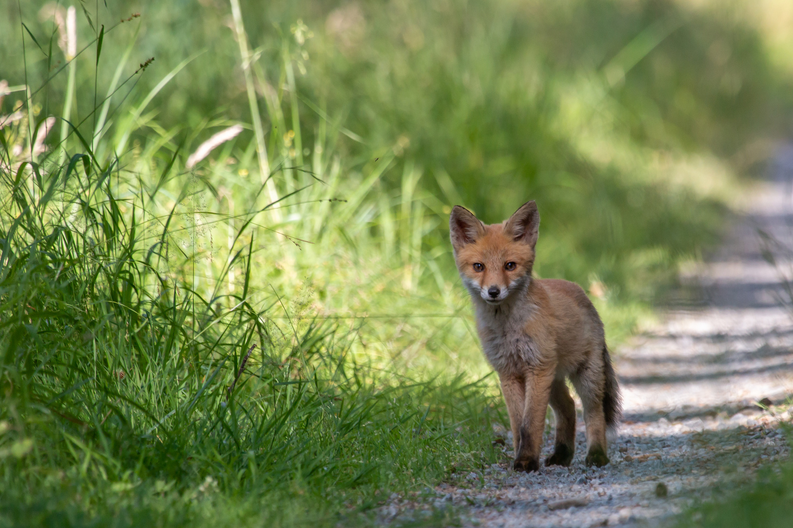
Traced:
<path id="1" fill-rule="evenodd" d="M 520 441 L 515 450 L 515 471 L 538 471 L 540 469 L 540 450 L 542 431 L 545 429 L 545 416 L 548 410 L 550 386 L 554 382 L 554 372 L 532 372 L 526 376 L 526 403 L 523 407 L 523 420 L 519 427 Z"/>

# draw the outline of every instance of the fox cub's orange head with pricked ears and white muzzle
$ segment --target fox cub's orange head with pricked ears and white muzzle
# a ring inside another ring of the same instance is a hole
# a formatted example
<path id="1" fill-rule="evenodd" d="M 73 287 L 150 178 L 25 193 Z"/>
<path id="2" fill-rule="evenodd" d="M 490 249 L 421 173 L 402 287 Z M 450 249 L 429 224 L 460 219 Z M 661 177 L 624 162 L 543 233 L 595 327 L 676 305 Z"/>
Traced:
<path id="1" fill-rule="evenodd" d="M 454 206 L 449 218 L 454 261 L 472 295 L 496 305 L 527 285 L 539 225 L 534 200 L 524 203 L 508 220 L 490 226 L 465 207 Z"/>

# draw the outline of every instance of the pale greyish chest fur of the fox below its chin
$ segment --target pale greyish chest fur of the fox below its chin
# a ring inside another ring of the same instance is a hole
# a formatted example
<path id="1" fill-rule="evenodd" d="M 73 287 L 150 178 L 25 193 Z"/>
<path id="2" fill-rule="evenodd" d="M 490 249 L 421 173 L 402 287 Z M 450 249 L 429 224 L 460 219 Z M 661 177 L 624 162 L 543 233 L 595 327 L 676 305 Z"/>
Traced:
<path id="1" fill-rule="evenodd" d="M 474 301 L 477 330 L 485 358 L 501 375 L 519 374 L 541 363 L 541 351 L 526 331 L 533 306 L 528 300 L 490 306 Z"/>

